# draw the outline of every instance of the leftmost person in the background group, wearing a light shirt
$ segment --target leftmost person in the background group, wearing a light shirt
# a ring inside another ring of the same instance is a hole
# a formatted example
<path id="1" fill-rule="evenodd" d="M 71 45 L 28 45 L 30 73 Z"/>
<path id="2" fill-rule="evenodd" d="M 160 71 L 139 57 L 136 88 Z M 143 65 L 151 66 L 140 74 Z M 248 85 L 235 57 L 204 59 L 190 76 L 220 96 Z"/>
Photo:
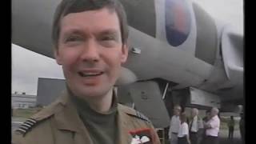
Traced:
<path id="1" fill-rule="evenodd" d="M 170 129 L 169 129 L 169 139 L 170 144 L 178 144 L 178 129 L 181 125 L 181 121 L 179 119 L 179 115 L 181 114 L 182 107 L 174 106 L 174 115 L 170 119 Z"/>

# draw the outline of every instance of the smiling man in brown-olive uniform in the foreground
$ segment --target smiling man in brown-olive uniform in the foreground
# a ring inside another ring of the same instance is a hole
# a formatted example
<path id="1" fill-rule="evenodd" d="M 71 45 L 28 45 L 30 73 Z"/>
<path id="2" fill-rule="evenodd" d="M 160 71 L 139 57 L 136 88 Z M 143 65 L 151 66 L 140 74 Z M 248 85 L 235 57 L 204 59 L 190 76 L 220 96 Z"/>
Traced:
<path id="1" fill-rule="evenodd" d="M 66 92 L 15 131 L 14 144 L 159 144 L 152 123 L 117 103 L 114 84 L 128 55 L 118 0 L 63 0 L 52 31 Z"/>

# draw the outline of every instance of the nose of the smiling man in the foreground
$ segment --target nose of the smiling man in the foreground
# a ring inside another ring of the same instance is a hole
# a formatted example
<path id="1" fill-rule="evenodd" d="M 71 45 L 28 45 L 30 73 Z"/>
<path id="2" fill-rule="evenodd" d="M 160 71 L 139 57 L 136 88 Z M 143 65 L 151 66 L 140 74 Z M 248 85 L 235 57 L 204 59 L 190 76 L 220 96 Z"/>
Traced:
<path id="1" fill-rule="evenodd" d="M 86 62 L 98 62 L 99 60 L 99 47 L 97 42 L 90 40 L 86 42 L 83 47 L 81 58 Z"/>

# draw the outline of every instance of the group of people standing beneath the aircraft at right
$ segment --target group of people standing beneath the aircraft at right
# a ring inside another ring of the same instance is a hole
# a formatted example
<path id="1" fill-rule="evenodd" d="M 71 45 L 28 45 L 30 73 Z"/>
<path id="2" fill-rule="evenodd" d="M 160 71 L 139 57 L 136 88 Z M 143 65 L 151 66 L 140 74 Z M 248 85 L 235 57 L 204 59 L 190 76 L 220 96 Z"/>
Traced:
<path id="1" fill-rule="evenodd" d="M 174 106 L 174 115 L 170 120 L 170 144 L 217 144 L 220 119 L 218 108 L 206 111 L 206 117 L 198 117 L 198 109 L 193 108 L 190 120 L 182 113 L 181 106 Z"/>

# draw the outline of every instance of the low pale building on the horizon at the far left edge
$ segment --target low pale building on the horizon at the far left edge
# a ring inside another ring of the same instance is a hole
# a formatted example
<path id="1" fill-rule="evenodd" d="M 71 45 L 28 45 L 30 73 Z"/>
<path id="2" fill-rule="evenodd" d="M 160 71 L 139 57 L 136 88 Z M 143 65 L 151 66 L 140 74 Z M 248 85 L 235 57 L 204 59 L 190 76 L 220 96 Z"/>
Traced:
<path id="1" fill-rule="evenodd" d="M 11 106 L 13 109 L 27 109 L 36 106 L 37 96 L 28 95 L 26 93 L 18 94 L 14 92 L 11 94 Z"/>

